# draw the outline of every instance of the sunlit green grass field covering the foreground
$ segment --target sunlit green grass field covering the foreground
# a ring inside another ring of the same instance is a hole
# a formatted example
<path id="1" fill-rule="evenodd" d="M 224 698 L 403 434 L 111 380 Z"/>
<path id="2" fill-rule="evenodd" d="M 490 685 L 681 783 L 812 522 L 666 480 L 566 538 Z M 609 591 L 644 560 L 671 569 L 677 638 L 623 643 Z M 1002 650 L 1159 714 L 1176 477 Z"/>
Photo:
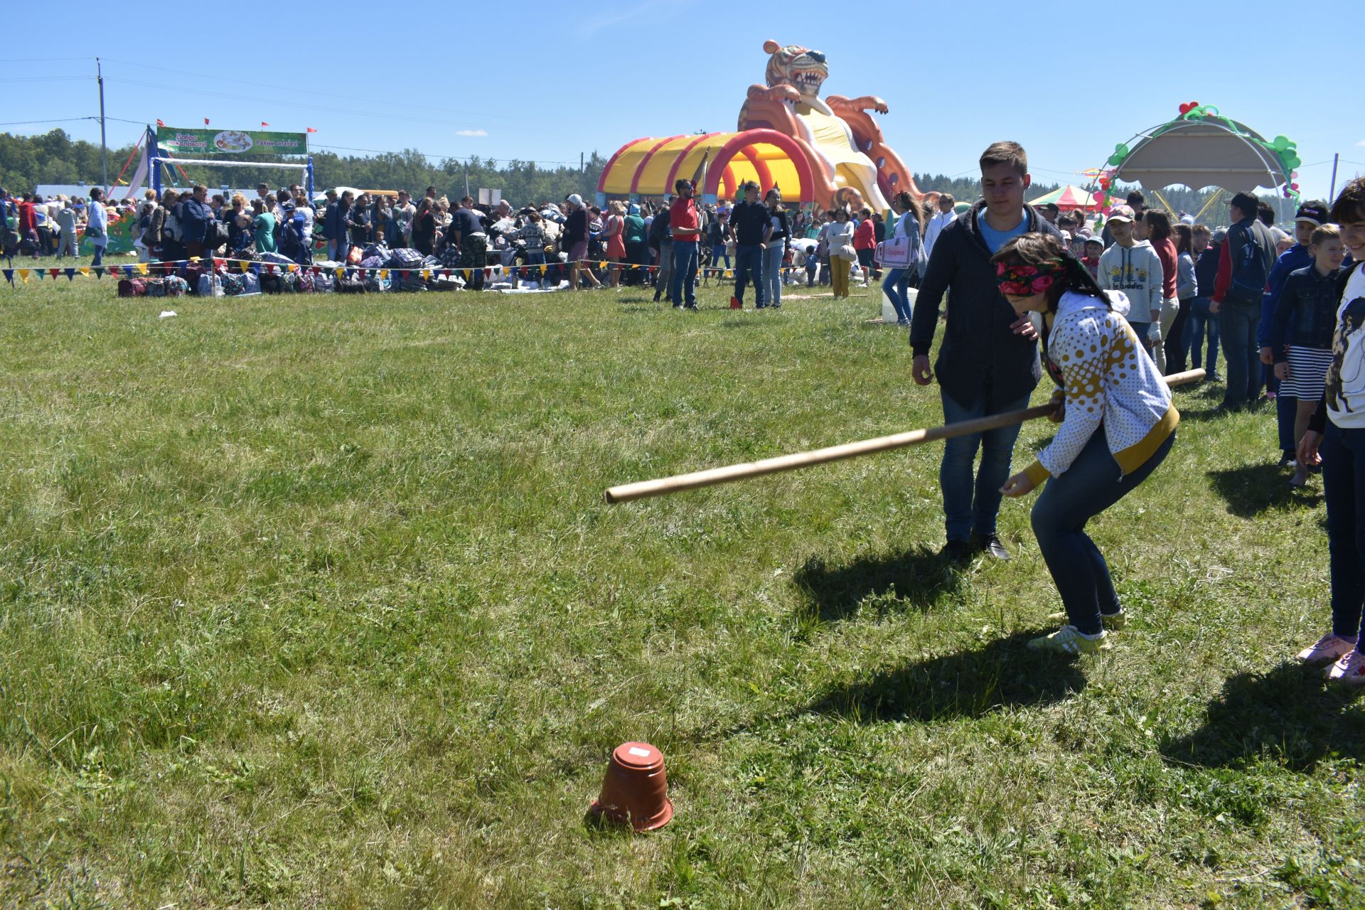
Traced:
<path id="1" fill-rule="evenodd" d="M 725 297 L 0 288 L 0 903 L 1365 906 L 1269 412 L 1178 393 L 1093 524 L 1127 629 L 1044 658 L 1032 497 L 946 572 L 938 446 L 602 503 L 940 422 L 870 291 Z M 646 836 L 584 821 L 627 739 Z"/>

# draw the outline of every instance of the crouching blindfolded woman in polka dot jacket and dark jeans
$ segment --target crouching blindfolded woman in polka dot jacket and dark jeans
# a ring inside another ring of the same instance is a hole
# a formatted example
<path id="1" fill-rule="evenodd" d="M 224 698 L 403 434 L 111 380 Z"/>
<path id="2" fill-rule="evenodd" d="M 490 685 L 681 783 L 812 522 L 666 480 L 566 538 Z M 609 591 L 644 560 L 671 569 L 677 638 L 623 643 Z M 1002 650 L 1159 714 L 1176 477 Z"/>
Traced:
<path id="1" fill-rule="evenodd" d="M 1055 237 L 1025 233 L 991 261 L 1014 311 L 1043 314 L 1044 364 L 1062 386 L 1054 396 L 1061 405 L 1054 422 L 1062 426 L 1052 442 L 1001 487 L 1007 497 L 1022 497 L 1047 482 L 1032 524 L 1067 625 L 1033 639 L 1029 648 L 1092 654 L 1108 647 L 1104 626 L 1119 628 L 1123 611 L 1085 525 L 1162 464 L 1179 413 L 1122 317 L 1126 297 L 1106 295 Z"/>

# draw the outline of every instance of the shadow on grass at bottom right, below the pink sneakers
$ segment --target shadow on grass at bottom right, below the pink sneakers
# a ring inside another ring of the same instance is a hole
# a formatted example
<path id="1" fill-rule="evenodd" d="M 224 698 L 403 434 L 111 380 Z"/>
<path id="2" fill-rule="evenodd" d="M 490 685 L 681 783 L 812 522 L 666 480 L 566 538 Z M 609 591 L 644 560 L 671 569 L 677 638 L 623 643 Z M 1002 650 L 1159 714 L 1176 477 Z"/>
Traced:
<path id="1" fill-rule="evenodd" d="M 1323 669 L 1284 663 L 1239 673 L 1208 703 L 1204 723 L 1162 748 L 1181 764 L 1230 767 L 1267 759 L 1312 771 L 1327 756 L 1365 759 L 1365 714 L 1347 711 L 1358 692 L 1328 684 Z"/>

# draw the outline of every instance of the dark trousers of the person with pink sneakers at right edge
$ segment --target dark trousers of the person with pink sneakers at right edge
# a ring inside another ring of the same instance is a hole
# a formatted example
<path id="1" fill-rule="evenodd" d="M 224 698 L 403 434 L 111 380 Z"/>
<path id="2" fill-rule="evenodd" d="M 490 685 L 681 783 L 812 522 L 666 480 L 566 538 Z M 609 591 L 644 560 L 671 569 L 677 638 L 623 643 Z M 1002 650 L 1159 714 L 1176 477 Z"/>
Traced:
<path id="1" fill-rule="evenodd" d="M 1328 419 L 1319 454 L 1327 499 L 1332 634 L 1355 639 L 1365 604 L 1365 430 L 1343 430 Z"/>

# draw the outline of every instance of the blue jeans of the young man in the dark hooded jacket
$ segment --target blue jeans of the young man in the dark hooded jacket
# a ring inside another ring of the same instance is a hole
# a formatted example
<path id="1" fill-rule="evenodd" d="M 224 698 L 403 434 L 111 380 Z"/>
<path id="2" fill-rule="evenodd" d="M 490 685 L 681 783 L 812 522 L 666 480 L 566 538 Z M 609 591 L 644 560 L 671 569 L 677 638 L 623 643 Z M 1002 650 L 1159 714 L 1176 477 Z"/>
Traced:
<path id="1" fill-rule="evenodd" d="M 848 262 L 839 261 L 845 269 Z M 971 404 L 962 407 L 947 393 L 939 390 L 943 398 L 943 422 L 961 423 L 1005 411 L 1020 411 L 1028 407 L 1028 396 L 1007 401 L 998 409 L 987 408 L 986 392 Z M 943 488 L 943 516 L 949 540 L 966 540 L 975 533 L 995 533 L 995 517 L 1001 512 L 1001 487 L 1010 476 L 1010 456 L 1014 441 L 1020 435 L 1020 424 L 987 430 L 969 437 L 957 437 L 943 445 L 943 464 L 939 465 L 939 486 Z M 981 450 L 981 467 L 972 480 L 972 465 L 976 450 Z M 975 495 L 973 495 L 975 490 Z"/>

